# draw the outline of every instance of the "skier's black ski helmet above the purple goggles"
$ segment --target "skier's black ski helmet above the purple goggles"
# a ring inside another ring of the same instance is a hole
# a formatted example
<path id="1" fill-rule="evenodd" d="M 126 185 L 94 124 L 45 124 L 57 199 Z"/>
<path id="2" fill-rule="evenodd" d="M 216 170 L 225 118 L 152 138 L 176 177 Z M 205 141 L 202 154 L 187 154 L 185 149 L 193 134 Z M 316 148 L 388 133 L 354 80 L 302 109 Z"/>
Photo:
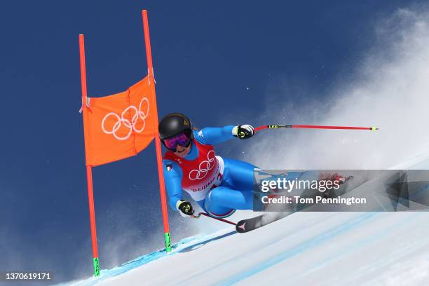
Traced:
<path id="1" fill-rule="evenodd" d="M 159 138 L 167 139 L 181 132 L 189 132 L 192 135 L 192 125 L 184 114 L 172 113 L 164 116 L 158 125 Z"/>

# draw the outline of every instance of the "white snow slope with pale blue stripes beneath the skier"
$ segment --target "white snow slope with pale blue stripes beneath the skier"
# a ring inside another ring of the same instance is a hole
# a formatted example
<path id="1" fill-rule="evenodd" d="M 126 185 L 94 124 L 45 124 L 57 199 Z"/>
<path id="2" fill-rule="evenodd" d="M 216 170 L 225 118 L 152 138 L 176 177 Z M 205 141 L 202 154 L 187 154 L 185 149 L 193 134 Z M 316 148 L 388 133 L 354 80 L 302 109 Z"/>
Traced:
<path id="1" fill-rule="evenodd" d="M 401 167 L 429 169 L 429 156 Z M 360 186 L 365 188 L 365 185 Z M 193 236 L 67 285 L 428 285 L 427 212 L 299 212 Z"/>

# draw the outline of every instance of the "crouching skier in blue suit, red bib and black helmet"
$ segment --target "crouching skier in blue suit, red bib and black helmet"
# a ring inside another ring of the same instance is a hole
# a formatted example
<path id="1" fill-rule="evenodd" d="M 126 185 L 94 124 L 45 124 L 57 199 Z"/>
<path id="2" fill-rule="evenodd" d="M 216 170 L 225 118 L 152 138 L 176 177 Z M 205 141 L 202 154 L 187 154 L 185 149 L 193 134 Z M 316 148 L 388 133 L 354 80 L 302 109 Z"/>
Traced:
<path id="1" fill-rule="evenodd" d="M 251 125 L 227 125 L 222 128 L 193 128 L 184 114 L 164 116 L 158 126 L 161 142 L 168 151 L 163 157 L 163 173 L 170 207 L 182 217 L 194 212 L 183 200 L 182 189 L 212 217 L 229 217 L 236 210 L 252 210 L 253 171 L 256 166 L 216 156 L 214 144 L 235 137 L 254 135 Z"/>

